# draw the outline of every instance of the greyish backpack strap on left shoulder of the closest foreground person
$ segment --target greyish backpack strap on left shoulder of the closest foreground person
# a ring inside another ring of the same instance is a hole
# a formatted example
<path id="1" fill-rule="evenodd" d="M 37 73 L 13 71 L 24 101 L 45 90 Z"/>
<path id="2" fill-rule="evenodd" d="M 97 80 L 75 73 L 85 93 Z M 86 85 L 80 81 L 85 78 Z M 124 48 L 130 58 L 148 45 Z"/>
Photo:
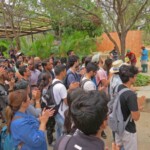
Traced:
<path id="1" fill-rule="evenodd" d="M 71 135 L 65 135 L 58 145 L 58 150 L 66 150 L 67 144 L 69 143 L 71 137 Z"/>

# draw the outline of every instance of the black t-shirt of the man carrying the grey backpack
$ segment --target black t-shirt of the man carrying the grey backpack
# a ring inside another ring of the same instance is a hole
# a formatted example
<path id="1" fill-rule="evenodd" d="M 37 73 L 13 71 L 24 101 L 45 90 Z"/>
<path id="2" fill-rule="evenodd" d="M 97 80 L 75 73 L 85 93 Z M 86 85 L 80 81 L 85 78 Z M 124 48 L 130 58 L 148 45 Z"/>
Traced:
<path id="1" fill-rule="evenodd" d="M 127 87 L 121 84 L 119 85 L 118 90 L 120 91 L 123 88 L 127 88 Z M 129 115 L 131 114 L 131 111 L 133 112 L 138 111 L 137 95 L 133 91 L 124 92 L 120 96 L 120 103 L 121 103 L 121 110 L 122 110 L 124 121 L 127 120 Z M 136 132 L 136 125 L 133 119 L 129 120 L 125 129 L 130 133 Z"/>

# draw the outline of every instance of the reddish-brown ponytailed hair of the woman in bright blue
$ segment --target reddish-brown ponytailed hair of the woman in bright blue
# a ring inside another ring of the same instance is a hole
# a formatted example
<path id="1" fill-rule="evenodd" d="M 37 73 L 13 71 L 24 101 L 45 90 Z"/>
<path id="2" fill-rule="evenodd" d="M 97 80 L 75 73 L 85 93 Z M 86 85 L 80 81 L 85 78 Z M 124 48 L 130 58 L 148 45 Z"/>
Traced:
<path id="1" fill-rule="evenodd" d="M 8 132 L 10 132 L 10 124 L 16 111 L 21 107 L 22 102 L 27 101 L 27 90 L 16 90 L 9 94 L 9 105 L 6 107 L 6 120 Z"/>

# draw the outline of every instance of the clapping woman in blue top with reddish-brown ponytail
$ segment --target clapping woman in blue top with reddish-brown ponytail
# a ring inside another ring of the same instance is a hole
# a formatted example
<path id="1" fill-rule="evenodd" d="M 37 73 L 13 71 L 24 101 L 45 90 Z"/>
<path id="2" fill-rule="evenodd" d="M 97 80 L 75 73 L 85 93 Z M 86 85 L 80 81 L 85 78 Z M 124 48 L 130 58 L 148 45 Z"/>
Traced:
<path id="1" fill-rule="evenodd" d="M 16 90 L 9 94 L 6 117 L 14 146 L 21 150 L 47 150 L 44 132 L 48 118 L 53 116 L 54 111 L 44 109 L 37 120 L 25 113 L 29 104 L 27 90 Z"/>

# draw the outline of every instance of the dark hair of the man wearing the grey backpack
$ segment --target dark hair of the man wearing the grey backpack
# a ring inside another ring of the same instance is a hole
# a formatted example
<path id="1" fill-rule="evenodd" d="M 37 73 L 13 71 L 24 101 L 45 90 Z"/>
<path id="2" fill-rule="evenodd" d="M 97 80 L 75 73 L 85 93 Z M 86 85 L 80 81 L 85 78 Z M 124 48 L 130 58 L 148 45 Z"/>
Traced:
<path id="1" fill-rule="evenodd" d="M 138 74 L 138 68 L 132 65 L 122 65 L 119 69 L 119 76 L 123 83 L 127 83 L 136 74 Z"/>

